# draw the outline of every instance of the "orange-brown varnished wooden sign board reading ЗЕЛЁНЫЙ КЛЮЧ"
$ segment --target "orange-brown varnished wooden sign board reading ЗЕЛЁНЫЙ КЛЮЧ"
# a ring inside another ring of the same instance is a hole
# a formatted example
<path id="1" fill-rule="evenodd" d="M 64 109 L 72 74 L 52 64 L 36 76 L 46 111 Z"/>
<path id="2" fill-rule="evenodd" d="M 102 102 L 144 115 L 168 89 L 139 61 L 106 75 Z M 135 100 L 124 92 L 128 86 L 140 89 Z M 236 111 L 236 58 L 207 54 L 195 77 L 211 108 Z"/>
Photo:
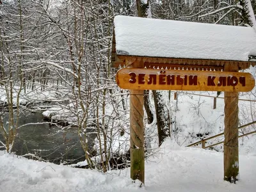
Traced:
<path id="1" fill-rule="evenodd" d="M 147 68 L 122 68 L 116 83 L 128 90 L 249 92 L 255 86 L 249 73 Z"/>

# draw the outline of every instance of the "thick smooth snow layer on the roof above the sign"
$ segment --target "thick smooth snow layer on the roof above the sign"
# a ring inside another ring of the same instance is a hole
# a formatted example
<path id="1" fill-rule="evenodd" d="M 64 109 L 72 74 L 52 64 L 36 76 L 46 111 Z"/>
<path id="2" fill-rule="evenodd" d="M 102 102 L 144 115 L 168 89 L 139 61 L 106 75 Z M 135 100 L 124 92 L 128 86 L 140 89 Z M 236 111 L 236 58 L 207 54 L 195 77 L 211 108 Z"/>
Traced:
<path id="1" fill-rule="evenodd" d="M 117 54 L 248 61 L 256 56 L 253 28 L 116 16 Z"/>

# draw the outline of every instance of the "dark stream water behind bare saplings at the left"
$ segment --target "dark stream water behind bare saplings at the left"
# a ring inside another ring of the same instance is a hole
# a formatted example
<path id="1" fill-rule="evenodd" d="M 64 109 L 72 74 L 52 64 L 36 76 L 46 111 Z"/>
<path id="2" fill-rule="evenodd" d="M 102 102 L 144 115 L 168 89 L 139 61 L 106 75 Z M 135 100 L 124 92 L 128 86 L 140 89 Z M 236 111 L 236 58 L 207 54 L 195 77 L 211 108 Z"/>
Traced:
<path id="1" fill-rule="evenodd" d="M 4 116 L 4 126 L 8 126 Z M 31 123 L 34 123 L 31 125 Z M 37 124 L 36 123 L 45 123 Z M 42 112 L 22 113 L 19 125 L 25 125 L 18 131 L 13 152 L 17 155 L 35 154 L 52 163 L 77 163 L 84 160 L 76 127 L 62 129 L 45 121 Z M 0 136 L 0 140 L 3 139 Z M 29 156 L 28 156 L 29 157 Z M 30 156 L 31 157 L 31 156 Z M 35 158 L 34 158 L 35 159 Z"/>

